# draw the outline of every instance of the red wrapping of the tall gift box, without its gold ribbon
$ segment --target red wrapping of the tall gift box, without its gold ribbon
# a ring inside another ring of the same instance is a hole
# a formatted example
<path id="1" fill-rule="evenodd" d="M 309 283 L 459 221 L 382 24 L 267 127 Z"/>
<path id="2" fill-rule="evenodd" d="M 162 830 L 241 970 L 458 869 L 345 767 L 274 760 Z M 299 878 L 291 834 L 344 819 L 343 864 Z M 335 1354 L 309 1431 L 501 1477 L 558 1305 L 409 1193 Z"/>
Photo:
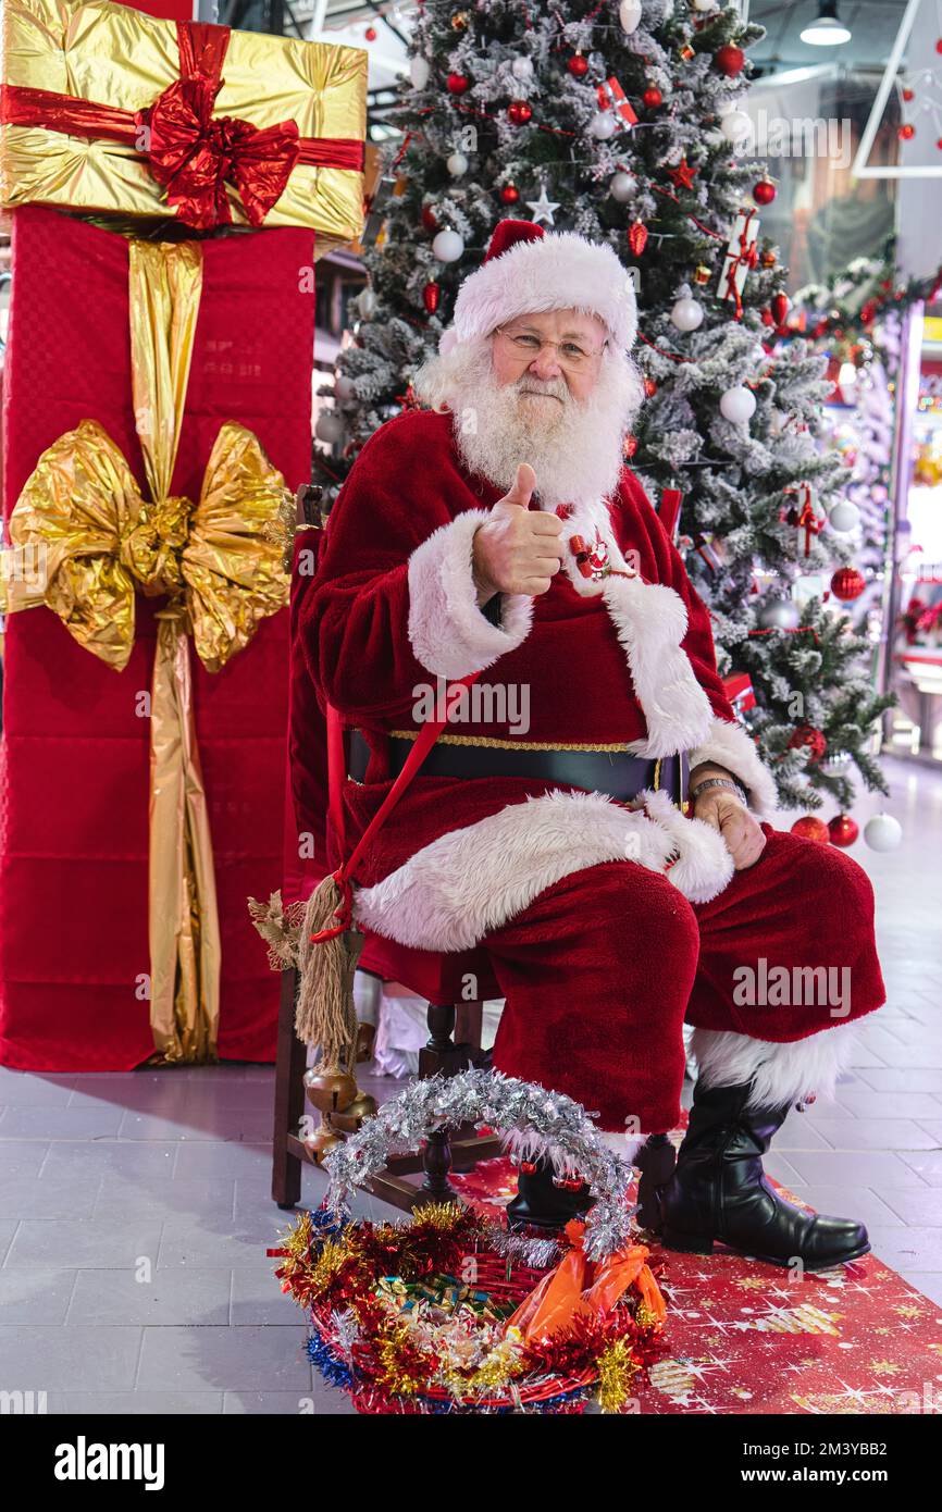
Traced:
<path id="1" fill-rule="evenodd" d="M 172 493 L 200 496 L 225 420 L 256 432 L 293 490 L 310 478 L 315 234 L 203 242 L 203 296 Z M 145 488 L 135 432 L 129 243 L 54 210 L 14 213 L 5 373 L 5 514 L 39 454 L 98 420 Z M 153 1054 L 148 975 L 148 720 L 154 609 L 138 596 L 124 671 L 47 608 L 6 623 L 0 759 L 0 1061 L 127 1070 Z M 278 980 L 246 897 L 281 883 L 289 615 L 221 671 L 192 656 L 222 933 L 218 1051 L 272 1060 Z"/>

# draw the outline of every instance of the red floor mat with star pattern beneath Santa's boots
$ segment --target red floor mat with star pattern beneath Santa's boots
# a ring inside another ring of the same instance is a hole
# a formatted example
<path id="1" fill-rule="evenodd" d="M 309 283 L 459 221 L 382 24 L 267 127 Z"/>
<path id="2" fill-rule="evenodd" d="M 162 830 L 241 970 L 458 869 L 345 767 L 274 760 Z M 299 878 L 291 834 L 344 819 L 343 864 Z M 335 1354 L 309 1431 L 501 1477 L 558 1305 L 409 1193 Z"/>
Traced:
<path id="1" fill-rule="evenodd" d="M 490 1214 L 517 1190 L 507 1160 L 451 1179 Z M 874 1255 L 803 1281 L 720 1250 L 652 1244 L 652 1266 L 670 1352 L 641 1393 L 643 1414 L 942 1412 L 942 1309 Z"/>

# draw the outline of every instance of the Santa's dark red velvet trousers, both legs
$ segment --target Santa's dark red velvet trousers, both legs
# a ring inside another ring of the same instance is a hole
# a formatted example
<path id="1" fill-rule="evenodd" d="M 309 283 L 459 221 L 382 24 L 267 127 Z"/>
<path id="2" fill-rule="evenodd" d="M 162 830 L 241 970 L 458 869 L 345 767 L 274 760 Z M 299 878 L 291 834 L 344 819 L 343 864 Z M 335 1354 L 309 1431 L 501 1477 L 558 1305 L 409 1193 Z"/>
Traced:
<path id="1" fill-rule="evenodd" d="M 833 845 L 764 832 L 761 859 L 712 903 L 617 860 L 572 872 L 490 933 L 507 996 L 494 1066 L 569 1093 L 603 1129 L 655 1134 L 677 1122 L 685 1019 L 785 1043 L 880 1007 L 869 878 Z M 827 1058 L 815 1048 L 809 1072 Z"/>

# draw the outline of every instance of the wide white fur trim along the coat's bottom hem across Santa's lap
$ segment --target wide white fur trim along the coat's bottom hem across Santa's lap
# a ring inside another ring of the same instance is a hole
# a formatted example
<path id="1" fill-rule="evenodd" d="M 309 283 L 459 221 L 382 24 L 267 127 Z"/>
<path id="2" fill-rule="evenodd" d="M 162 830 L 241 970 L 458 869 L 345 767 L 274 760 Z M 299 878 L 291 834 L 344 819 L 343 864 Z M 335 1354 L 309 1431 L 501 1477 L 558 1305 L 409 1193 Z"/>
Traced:
<path id="1" fill-rule="evenodd" d="M 676 854 L 668 881 L 679 892 L 691 888 L 691 901 L 715 897 L 732 875 L 720 835 L 679 813 L 674 824 L 667 794 L 659 797 L 664 804 L 652 816 L 597 792 L 553 791 L 511 803 L 438 836 L 383 881 L 358 889 L 354 916 L 399 945 L 470 950 L 572 872 L 631 860 L 664 874 Z"/>

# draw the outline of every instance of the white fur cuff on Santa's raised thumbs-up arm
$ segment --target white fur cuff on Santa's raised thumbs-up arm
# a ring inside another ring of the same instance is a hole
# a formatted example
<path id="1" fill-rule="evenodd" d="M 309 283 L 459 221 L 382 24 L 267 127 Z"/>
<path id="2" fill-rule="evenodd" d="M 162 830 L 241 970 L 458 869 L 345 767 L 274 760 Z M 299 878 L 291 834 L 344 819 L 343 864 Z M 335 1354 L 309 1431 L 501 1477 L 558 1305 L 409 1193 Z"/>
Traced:
<path id="1" fill-rule="evenodd" d="M 466 677 L 491 667 L 529 634 L 534 600 L 505 593 L 502 623 L 491 624 L 478 608 L 472 576 L 475 531 L 485 510 L 467 510 L 417 546 L 408 559 L 408 638 L 419 661 L 437 677 Z"/>

